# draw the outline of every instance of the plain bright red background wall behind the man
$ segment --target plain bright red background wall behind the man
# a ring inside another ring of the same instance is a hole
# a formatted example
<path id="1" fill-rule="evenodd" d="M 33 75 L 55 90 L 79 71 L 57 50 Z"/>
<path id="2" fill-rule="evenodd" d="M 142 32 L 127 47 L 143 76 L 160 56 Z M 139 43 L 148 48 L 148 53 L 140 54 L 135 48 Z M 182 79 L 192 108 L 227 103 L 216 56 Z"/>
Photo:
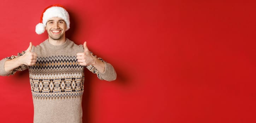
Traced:
<path id="1" fill-rule="evenodd" d="M 256 122 L 255 2 L 2 0 L 1 59 L 48 38 L 35 26 L 56 3 L 70 13 L 66 37 L 117 72 L 86 71 L 84 123 Z M 33 122 L 28 71 L 0 83 L 1 122 Z"/>

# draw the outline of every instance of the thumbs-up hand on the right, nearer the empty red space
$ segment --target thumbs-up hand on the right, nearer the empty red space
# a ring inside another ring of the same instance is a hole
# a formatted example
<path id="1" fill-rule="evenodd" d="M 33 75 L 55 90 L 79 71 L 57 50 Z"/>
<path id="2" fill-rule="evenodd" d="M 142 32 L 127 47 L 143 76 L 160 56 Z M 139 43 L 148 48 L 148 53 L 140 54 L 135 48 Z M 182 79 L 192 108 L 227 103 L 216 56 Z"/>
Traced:
<path id="1" fill-rule="evenodd" d="M 85 51 L 76 54 L 78 64 L 83 66 L 93 65 L 95 63 L 95 57 L 93 57 L 90 51 L 88 50 L 86 46 L 86 41 L 85 43 L 83 43 L 83 47 L 85 48 Z"/>

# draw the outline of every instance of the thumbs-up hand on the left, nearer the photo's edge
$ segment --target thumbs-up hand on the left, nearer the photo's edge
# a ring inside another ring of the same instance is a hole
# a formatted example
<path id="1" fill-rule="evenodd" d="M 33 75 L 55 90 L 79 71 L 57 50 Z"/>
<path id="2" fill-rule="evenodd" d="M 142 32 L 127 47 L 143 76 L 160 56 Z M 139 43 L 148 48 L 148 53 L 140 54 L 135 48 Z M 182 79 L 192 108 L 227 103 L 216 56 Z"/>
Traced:
<path id="1" fill-rule="evenodd" d="M 21 62 L 24 65 L 33 66 L 36 63 L 37 54 L 35 52 L 31 52 L 32 46 L 33 45 L 30 42 L 28 49 L 24 55 L 21 56 Z"/>

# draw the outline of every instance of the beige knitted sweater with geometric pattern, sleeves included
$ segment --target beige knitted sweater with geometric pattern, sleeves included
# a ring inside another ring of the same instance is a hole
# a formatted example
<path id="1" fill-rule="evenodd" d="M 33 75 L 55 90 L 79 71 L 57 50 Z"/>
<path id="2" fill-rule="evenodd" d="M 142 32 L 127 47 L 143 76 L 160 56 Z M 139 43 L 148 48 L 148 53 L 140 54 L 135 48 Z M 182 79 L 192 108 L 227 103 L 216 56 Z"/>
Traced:
<path id="1" fill-rule="evenodd" d="M 13 75 L 16 71 L 29 69 L 34 123 L 82 123 L 85 66 L 78 64 L 76 53 L 83 52 L 83 45 L 76 45 L 66 39 L 64 44 L 55 46 L 45 40 L 40 45 L 33 46 L 31 51 L 37 53 L 37 62 L 34 66 L 21 65 L 13 71 L 5 71 L 5 61 L 22 56 L 25 53 L 23 51 L 18 53 L 18 56 L 0 61 L 0 75 Z M 96 73 L 99 79 L 115 80 L 114 68 L 111 64 L 104 63 L 104 73 L 98 72 L 92 65 L 86 67 Z"/>

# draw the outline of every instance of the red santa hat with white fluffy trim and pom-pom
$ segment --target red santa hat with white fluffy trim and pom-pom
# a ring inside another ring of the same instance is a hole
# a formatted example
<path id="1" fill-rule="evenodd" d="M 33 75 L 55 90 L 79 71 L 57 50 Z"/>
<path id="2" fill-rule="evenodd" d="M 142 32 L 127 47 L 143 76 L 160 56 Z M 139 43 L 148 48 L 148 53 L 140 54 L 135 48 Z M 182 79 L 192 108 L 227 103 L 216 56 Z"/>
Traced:
<path id="1" fill-rule="evenodd" d="M 69 13 L 66 11 L 64 6 L 55 4 L 55 5 L 48 6 L 43 10 L 43 13 L 41 14 L 41 18 L 40 18 L 40 23 L 36 25 L 36 33 L 42 34 L 43 32 L 45 32 L 47 21 L 53 17 L 59 17 L 64 19 L 67 25 L 66 31 L 69 30 L 70 28 Z"/>

